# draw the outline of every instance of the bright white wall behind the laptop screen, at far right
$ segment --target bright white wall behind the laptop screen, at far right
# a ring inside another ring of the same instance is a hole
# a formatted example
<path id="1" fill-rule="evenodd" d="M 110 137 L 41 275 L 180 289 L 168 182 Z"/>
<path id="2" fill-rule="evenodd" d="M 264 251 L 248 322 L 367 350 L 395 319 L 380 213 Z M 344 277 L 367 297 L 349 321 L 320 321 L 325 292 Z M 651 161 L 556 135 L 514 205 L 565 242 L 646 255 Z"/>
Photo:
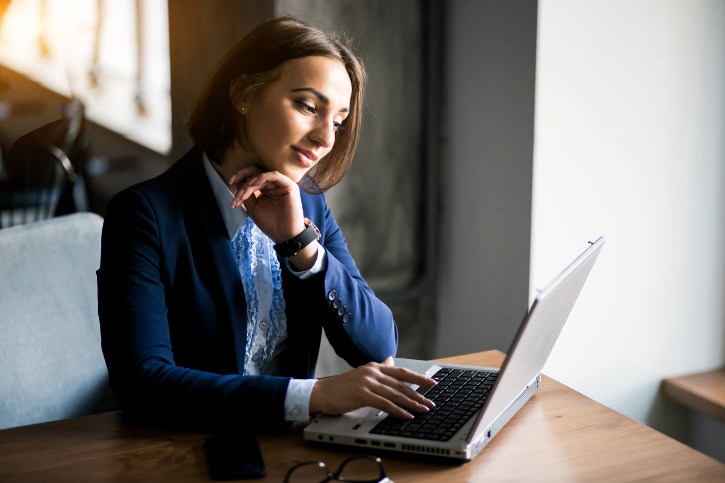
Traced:
<path id="1" fill-rule="evenodd" d="M 608 238 L 544 373 L 638 421 L 725 362 L 725 4 L 540 0 L 531 292 Z"/>

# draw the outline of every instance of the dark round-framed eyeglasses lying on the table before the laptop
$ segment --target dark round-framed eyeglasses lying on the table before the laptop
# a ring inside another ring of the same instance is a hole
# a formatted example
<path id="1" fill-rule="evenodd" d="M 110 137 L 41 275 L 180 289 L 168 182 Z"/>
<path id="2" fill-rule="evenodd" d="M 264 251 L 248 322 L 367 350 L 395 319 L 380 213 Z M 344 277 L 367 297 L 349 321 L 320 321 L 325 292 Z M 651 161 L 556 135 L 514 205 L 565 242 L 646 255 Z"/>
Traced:
<path id="1" fill-rule="evenodd" d="M 332 479 L 348 483 L 393 483 L 385 474 L 383 461 L 373 455 L 347 458 L 334 473 L 322 461 L 305 461 L 287 471 L 284 483 L 326 483 Z"/>

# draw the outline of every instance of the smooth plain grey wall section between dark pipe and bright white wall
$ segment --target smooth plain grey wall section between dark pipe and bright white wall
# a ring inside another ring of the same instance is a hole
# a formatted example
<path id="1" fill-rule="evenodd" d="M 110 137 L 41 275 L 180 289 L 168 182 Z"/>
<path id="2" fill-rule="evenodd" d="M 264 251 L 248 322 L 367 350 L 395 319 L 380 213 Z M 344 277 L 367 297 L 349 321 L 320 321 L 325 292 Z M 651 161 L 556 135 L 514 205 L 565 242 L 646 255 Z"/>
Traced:
<path id="1" fill-rule="evenodd" d="M 537 2 L 447 2 L 437 356 L 508 350 L 526 314 Z"/>

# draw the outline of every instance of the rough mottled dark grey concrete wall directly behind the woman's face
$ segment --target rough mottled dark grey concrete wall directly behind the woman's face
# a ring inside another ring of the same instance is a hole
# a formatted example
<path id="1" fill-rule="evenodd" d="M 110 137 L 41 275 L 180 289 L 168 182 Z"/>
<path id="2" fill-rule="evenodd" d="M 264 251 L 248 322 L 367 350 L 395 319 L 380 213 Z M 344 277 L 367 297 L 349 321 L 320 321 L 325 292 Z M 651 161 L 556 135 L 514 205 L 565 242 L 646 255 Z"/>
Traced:
<path id="1" fill-rule="evenodd" d="M 413 282 L 421 256 L 415 240 L 421 214 L 421 2 L 276 0 L 275 13 L 346 34 L 365 63 L 360 144 L 327 199 L 370 287 L 376 293 L 399 290 Z M 391 306 L 398 356 L 433 356 L 435 303 L 431 287 L 419 300 Z M 318 375 L 346 368 L 323 341 Z"/>

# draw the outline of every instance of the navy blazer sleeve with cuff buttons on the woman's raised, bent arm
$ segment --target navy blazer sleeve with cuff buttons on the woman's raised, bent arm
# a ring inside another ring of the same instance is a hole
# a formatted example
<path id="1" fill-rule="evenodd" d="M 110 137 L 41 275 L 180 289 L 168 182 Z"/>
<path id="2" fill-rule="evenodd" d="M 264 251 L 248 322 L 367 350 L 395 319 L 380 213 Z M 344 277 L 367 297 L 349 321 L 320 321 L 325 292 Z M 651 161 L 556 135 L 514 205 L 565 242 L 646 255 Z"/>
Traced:
<path id="1" fill-rule="evenodd" d="M 327 251 L 324 291 L 318 295 L 324 298 L 323 327 L 335 352 L 351 366 L 382 362 L 397 351 L 393 314 L 360 275 L 325 196 L 321 198 L 324 239 L 320 241 Z"/>

